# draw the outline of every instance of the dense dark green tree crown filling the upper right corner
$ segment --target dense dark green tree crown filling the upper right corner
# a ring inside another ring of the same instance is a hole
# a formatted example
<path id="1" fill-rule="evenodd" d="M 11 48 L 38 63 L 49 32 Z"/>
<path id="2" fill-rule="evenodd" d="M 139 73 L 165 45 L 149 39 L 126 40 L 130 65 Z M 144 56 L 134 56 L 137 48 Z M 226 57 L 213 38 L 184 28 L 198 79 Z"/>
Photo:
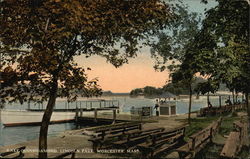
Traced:
<path id="1" fill-rule="evenodd" d="M 198 52 L 187 58 L 196 61 L 192 68 L 202 75 L 225 83 L 231 91 L 249 96 L 249 1 L 217 0 L 206 12 L 202 29 L 195 38 Z M 250 108 L 247 101 L 250 121 Z"/>

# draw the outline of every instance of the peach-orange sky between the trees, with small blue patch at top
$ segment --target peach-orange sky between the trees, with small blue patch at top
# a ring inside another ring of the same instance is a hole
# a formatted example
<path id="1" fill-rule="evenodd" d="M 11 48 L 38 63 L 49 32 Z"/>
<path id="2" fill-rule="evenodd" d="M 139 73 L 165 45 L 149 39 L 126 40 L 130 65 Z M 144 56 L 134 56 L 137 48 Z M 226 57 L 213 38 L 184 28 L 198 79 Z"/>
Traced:
<path id="1" fill-rule="evenodd" d="M 216 3 L 210 2 L 208 5 L 200 3 L 200 0 L 185 0 L 190 6 L 191 11 L 204 13 L 205 7 L 215 6 Z M 92 56 L 85 58 L 78 56 L 76 62 L 83 67 L 90 67 L 87 71 L 89 80 L 98 78 L 98 84 L 104 91 L 115 93 L 130 92 L 135 88 L 145 86 L 162 87 L 168 81 L 169 72 L 159 72 L 154 70 L 154 59 L 151 58 L 150 48 L 142 48 L 138 56 L 129 59 L 129 64 L 124 64 L 115 68 L 112 64 L 107 63 L 105 58 Z"/>

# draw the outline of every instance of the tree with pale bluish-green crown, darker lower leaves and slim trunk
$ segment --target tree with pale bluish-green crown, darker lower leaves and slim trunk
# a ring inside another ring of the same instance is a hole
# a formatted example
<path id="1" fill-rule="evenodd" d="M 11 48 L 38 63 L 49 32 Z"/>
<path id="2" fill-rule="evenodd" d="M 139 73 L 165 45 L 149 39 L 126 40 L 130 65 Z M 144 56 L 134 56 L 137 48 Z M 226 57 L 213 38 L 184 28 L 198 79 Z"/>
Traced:
<path id="1" fill-rule="evenodd" d="M 172 82 L 179 83 L 188 88 L 189 91 L 189 111 L 188 111 L 188 123 L 191 119 L 191 106 L 192 106 L 192 83 L 195 80 L 195 71 L 190 68 L 190 64 L 185 63 L 186 52 L 196 51 L 192 50 L 192 45 L 195 36 L 199 32 L 200 16 L 195 12 L 188 11 L 188 6 L 182 3 L 176 3 L 176 18 L 171 21 L 171 25 L 168 28 L 168 32 L 161 32 L 158 36 L 159 41 L 152 44 L 152 56 L 156 59 L 156 69 L 161 71 L 168 68 L 172 71 Z M 168 67 L 165 64 L 168 61 L 172 61 L 172 64 Z M 188 59 L 192 62 L 192 60 Z M 177 63 L 185 63 L 180 66 Z"/>

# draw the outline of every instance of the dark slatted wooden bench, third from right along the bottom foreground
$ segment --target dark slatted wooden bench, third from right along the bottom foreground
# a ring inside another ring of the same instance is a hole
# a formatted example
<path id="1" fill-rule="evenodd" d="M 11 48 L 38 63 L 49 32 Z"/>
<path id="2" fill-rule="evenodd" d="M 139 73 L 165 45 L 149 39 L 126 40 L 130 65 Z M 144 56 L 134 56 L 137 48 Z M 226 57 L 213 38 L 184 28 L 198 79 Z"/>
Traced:
<path id="1" fill-rule="evenodd" d="M 142 157 L 157 156 L 183 143 L 185 127 L 186 126 L 150 135 L 151 137 L 147 142 L 137 145 L 137 148 L 142 152 Z"/>

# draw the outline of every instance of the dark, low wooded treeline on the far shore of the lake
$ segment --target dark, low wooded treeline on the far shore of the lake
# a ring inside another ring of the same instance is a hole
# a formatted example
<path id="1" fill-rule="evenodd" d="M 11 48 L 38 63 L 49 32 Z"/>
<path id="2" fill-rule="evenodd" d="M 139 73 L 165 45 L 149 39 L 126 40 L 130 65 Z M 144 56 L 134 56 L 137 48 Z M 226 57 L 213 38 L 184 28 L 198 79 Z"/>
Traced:
<path id="1" fill-rule="evenodd" d="M 206 81 L 206 79 L 198 77 L 193 82 L 192 87 L 196 88 L 198 86 L 198 83 L 202 83 L 205 81 Z M 227 91 L 228 89 L 226 88 L 226 85 L 221 84 L 219 90 Z M 175 95 L 180 95 L 180 94 L 188 95 L 189 88 L 187 86 L 181 85 L 179 83 L 168 83 L 161 88 L 155 88 L 152 86 L 146 86 L 144 88 L 136 88 L 130 92 L 130 95 L 131 96 L 138 96 L 138 95 L 154 96 L 154 95 L 163 94 L 164 92 L 170 92 L 170 93 L 175 94 Z M 197 93 L 197 92 L 194 91 L 194 93 Z"/>

